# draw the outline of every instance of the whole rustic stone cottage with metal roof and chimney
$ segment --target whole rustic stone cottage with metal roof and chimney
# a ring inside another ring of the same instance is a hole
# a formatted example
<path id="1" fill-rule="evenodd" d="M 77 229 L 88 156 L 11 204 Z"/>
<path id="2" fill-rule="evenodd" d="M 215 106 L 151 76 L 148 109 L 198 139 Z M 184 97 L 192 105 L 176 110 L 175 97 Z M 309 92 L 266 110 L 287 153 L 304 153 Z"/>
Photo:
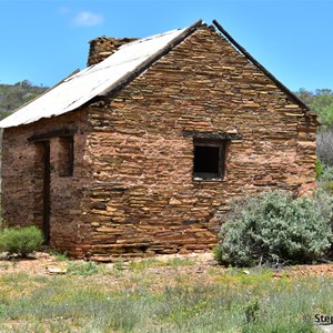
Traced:
<path id="1" fill-rule="evenodd" d="M 231 199 L 315 178 L 315 114 L 223 28 L 91 41 L 0 122 L 8 225 L 75 258 L 211 249 Z"/>

